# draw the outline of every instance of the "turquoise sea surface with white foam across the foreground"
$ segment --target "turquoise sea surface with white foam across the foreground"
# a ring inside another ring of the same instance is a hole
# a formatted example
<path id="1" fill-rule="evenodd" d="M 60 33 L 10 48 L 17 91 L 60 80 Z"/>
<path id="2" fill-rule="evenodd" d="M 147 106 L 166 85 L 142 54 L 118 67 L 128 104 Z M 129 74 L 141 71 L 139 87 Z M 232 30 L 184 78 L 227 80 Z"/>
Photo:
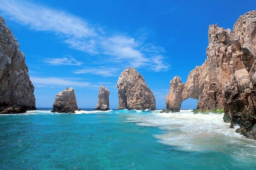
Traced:
<path id="1" fill-rule="evenodd" d="M 0 115 L 0 170 L 256 170 L 222 114 L 50 110 Z"/>

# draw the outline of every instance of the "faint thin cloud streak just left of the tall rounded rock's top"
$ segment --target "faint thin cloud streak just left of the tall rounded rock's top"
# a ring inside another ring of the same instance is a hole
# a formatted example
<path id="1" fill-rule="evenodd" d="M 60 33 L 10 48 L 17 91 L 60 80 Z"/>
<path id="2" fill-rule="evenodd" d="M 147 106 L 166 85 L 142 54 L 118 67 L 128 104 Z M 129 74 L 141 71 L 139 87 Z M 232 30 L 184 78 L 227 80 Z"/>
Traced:
<path id="1" fill-rule="evenodd" d="M 111 77 L 116 76 L 117 71 L 119 71 L 119 68 L 106 68 L 106 67 L 100 67 L 100 68 L 84 68 L 81 70 L 73 71 L 75 74 L 94 74 L 99 75 L 103 77 Z"/>

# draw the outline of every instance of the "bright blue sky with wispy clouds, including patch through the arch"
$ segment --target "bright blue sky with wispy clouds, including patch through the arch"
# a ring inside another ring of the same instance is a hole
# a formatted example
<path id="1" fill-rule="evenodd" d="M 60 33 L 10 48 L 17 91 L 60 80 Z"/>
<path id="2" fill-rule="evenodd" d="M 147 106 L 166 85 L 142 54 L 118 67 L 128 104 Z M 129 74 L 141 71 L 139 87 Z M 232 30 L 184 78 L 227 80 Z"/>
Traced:
<path id="1" fill-rule="evenodd" d="M 0 0 L 26 57 L 36 107 L 52 107 L 55 95 L 73 87 L 79 108 L 95 108 L 100 85 L 117 108 L 116 82 L 136 67 L 165 108 L 169 82 L 206 59 L 208 28 L 233 28 L 255 0 Z M 188 99 L 182 108 L 195 108 Z"/>

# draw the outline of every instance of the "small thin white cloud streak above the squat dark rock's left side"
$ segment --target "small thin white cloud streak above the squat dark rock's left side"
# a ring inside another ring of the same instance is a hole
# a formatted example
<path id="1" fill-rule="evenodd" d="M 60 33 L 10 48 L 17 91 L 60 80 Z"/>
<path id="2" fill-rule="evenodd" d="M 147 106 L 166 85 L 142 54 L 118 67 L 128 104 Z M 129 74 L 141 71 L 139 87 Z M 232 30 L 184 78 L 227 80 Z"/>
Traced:
<path id="1" fill-rule="evenodd" d="M 72 57 L 63 58 L 46 58 L 44 62 L 49 65 L 81 65 L 83 62 L 79 62 Z"/>

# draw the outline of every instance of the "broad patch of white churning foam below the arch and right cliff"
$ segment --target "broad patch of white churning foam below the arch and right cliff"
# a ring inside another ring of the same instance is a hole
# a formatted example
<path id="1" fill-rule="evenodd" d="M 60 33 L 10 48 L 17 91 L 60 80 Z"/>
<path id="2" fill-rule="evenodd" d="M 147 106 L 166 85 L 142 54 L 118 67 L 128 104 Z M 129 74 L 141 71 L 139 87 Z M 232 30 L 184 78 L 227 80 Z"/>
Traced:
<path id="1" fill-rule="evenodd" d="M 223 122 L 223 114 L 193 114 L 192 110 L 177 113 L 130 114 L 126 122 L 135 122 L 140 126 L 158 127 L 163 134 L 156 134 L 159 142 L 180 150 L 209 151 L 215 150 L 234 154 L 239 157 L 253 156 L 256 159 L 256 141 L 231 129 Z"/>

